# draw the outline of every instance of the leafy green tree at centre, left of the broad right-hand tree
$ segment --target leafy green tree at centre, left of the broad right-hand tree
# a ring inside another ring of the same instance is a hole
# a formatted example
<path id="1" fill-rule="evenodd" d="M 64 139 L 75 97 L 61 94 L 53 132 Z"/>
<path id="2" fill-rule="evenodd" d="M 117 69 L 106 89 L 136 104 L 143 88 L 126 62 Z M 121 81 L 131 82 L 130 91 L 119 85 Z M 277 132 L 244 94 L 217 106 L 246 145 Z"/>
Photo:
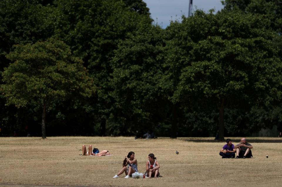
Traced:
<path id="1" fill-rule="evenodd" d="M 114 89 L 112 111 L 116 115 L 110 120 L 117 121 L 119 127 L 109 127 L 115 135 L 149 129 L 156 132 L 157 124 L 167 112 L 163 112 L 163 90 L 159 86 L 163 74 L 162 33 L 159 26 L 143 28 L 120 42 L 115 51 L 110 85 Z"/>

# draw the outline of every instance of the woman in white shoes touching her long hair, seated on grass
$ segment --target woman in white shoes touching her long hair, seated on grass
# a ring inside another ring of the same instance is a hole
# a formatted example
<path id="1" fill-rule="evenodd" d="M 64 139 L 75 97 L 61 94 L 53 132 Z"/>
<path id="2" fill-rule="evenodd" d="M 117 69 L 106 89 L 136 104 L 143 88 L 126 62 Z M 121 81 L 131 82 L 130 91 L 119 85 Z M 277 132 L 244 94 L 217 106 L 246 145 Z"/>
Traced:
<path id="1" fill-rule="evenodd" d="M 118 178 L 118 176 L 123 172 L 126 175 L 125 178 L 129 178 L 132 173 L 138 172 L 137 159 L 135 158 L 135 153 L 132 151 L 130 151 L 125 157 L 125 159 L 123 160 L 122 169 L 113 178 Z"/>

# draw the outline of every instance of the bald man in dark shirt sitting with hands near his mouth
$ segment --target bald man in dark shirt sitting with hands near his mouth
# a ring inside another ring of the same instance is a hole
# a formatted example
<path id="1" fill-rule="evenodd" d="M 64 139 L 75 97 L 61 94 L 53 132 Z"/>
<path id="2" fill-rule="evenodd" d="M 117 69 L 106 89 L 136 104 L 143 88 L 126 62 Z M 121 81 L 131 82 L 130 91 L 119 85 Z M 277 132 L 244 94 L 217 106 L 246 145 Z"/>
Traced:
<path id="1" fill-rule="evenodd" d="M 241 138 L 239 144 L 235 145 L 236 149 L 236 158 L 251 158 L 253 157 L 251 149 L 253 146 L 247 143 L 246 138 Z"/>

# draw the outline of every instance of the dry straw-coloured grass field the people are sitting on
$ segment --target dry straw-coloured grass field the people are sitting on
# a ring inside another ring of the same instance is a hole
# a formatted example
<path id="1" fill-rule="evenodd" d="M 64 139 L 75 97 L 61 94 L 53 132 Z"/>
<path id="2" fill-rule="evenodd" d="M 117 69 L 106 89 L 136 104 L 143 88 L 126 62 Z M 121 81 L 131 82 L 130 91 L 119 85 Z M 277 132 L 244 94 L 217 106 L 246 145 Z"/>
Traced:
<path id="1" fill-rule="evenodd" d="M 0 186 L 282 186 L 282 139 L 247 140 L 254 158 L 222 159 L 213 138 L 0 137 Z M 113 155 L 80 156 L 83 144 Z M 161 177 L 113 179 L 129 151 L 142 173 L 154 153 Z"/>

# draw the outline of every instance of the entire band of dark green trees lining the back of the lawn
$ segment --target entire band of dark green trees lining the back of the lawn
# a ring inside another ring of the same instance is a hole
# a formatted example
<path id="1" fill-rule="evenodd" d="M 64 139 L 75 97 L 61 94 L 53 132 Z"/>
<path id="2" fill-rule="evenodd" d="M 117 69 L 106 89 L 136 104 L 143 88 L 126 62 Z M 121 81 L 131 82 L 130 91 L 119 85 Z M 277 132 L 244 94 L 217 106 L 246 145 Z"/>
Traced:
<path id="1" fill-rule="evenodd" d="M 0 135 L 281 128 L 281 1 L 223 4 L 162 29 L 142 0 L 0 1 Z"/>

